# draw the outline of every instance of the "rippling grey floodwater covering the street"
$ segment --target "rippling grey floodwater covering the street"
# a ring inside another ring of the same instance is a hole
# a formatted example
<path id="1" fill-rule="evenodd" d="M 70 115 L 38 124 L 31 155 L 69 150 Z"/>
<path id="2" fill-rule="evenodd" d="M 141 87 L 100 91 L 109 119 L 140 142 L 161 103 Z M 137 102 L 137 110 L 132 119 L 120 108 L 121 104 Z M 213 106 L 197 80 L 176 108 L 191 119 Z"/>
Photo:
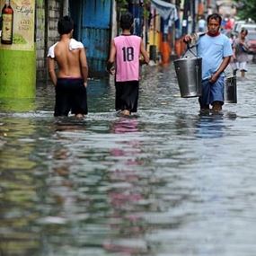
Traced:
<path id="1" fill-rule="evenodd" d="M 256 65 L 223 115 L 181 98 L 172 65 L 143 79 L 130 118 L 109 80 L 83 120 L 53 118 L 51 84 L 0 100 L 1 256 L 255 256 Z"/>

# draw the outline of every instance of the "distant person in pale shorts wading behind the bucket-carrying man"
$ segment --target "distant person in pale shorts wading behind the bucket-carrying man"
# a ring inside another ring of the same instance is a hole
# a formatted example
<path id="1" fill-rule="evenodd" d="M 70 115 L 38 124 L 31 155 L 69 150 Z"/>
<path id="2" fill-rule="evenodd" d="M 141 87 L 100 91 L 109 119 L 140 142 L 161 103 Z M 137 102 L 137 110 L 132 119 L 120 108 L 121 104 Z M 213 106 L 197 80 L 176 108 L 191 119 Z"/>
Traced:
<path id="1" fill-rule="evenodd" d="M 248 31 L 242 29 L 239 33 L 239 37 L 234 40 L 233 49 L 234 49 L 234 61 L 236 63 L 236 68 L 240 70 L 241 76 L 245 76 L 247 72 L 247 62 L 248 62 L 248 51 L 249 44 L 246 36 Z"/>

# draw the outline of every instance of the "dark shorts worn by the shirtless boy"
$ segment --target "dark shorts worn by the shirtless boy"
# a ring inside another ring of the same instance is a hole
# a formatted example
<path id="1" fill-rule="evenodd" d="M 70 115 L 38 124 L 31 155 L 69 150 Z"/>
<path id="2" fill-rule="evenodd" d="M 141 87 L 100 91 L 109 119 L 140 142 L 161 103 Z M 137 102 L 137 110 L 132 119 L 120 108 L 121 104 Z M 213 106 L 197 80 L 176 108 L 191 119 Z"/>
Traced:
<path id="1" fill-rule="evenodd" d="M 70 110 L 73 114 L 87 114 L 87 92 L 84 79 L 58 78 L 55 92 L 55 117 L 67 116 Z"/>

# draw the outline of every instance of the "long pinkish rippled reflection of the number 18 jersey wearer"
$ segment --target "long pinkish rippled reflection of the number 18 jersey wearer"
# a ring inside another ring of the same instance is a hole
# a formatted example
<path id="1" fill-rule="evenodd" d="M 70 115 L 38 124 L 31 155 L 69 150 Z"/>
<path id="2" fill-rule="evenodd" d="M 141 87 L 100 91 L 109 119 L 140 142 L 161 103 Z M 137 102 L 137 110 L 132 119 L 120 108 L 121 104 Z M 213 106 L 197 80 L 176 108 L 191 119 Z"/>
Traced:
<path id="1" fill-rule="evenodd" d="M 137 158 L 141 153 L 138 120 L 135 117 L 119 118 L 113 122 L 111 131 L 120 139 L 110 150 L 115 164 L 110 168 L 109 191 L 112 213 L 110 230 L 115 234 L 112 239 L 103 242 L 108 252 L 123 252 L 125 255 L 146 253 L 146 242 L 140 237 L 145 233 L 145 226 L 137 210 L 144 199 L 139 186 L 143 161 Z"/>

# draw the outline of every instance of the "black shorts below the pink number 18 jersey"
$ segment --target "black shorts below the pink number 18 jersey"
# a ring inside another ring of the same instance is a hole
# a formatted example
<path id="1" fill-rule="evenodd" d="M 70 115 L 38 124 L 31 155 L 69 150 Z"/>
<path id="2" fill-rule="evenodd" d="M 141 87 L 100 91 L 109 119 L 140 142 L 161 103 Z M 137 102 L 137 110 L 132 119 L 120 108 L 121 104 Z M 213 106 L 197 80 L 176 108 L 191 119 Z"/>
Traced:
<path id="1" fill-rule="evenodd" d="M 116 82 L 116 110 L 137 112 L 138 81 Z"/>

